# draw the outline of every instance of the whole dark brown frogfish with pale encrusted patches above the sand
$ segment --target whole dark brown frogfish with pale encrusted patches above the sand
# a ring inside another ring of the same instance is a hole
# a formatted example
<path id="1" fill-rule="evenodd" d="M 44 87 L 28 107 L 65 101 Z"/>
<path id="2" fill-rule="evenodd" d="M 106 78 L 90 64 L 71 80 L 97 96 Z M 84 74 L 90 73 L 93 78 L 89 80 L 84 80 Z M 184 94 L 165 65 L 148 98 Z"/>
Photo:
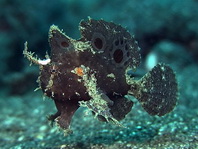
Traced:
<path id="1" fill-rule="evenodd" d="M 137 41 L 120 25 L 89 18 L 79 26 L 81 38 L 72 39 L 57 26 L 49 29 L 51 54 L 41 60 L 27 49 L 24 56 L 39 65 L 39 88 L 53 99 L 57 113 L 49 116 L 65 131 L 79 107 L 87 107 L 102 121 L 119 124 L 137 98 L 150 115 L 163 116 L 177 104 L 178 85 L 173 70 L 157 64 L 141 79 L 129 70 L 139 66 Z"/>

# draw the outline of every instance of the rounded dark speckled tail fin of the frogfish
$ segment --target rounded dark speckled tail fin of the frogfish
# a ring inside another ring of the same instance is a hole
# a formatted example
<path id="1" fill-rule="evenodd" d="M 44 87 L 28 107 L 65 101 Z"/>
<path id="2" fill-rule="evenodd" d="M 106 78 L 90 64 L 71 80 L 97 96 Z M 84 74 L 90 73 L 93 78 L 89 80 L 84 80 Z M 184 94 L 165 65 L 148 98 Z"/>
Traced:
<path id="1" fill-rule="evenodd" d="M 130 93 L 141 103 L 150 115 L 163 116 L 177 104 L 178 86 L 173 70 L 157 64 L 140 80 L 131 84 Z"/>

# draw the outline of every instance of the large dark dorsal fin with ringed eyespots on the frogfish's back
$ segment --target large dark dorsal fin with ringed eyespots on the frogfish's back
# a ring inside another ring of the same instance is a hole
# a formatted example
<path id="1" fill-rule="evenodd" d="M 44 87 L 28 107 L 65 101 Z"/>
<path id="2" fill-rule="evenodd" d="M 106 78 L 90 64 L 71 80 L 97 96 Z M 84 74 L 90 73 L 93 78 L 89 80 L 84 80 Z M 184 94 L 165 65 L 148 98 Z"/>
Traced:
<path id="1" fill-rule="evenodd" d="M 120 25 L 104 20 L 80 22 L 81 40 L 90 41 L 94 50 L 103 54 L 116 67 L 136 68 L 140 64 L 139 47 L 135 39 Z"/>

